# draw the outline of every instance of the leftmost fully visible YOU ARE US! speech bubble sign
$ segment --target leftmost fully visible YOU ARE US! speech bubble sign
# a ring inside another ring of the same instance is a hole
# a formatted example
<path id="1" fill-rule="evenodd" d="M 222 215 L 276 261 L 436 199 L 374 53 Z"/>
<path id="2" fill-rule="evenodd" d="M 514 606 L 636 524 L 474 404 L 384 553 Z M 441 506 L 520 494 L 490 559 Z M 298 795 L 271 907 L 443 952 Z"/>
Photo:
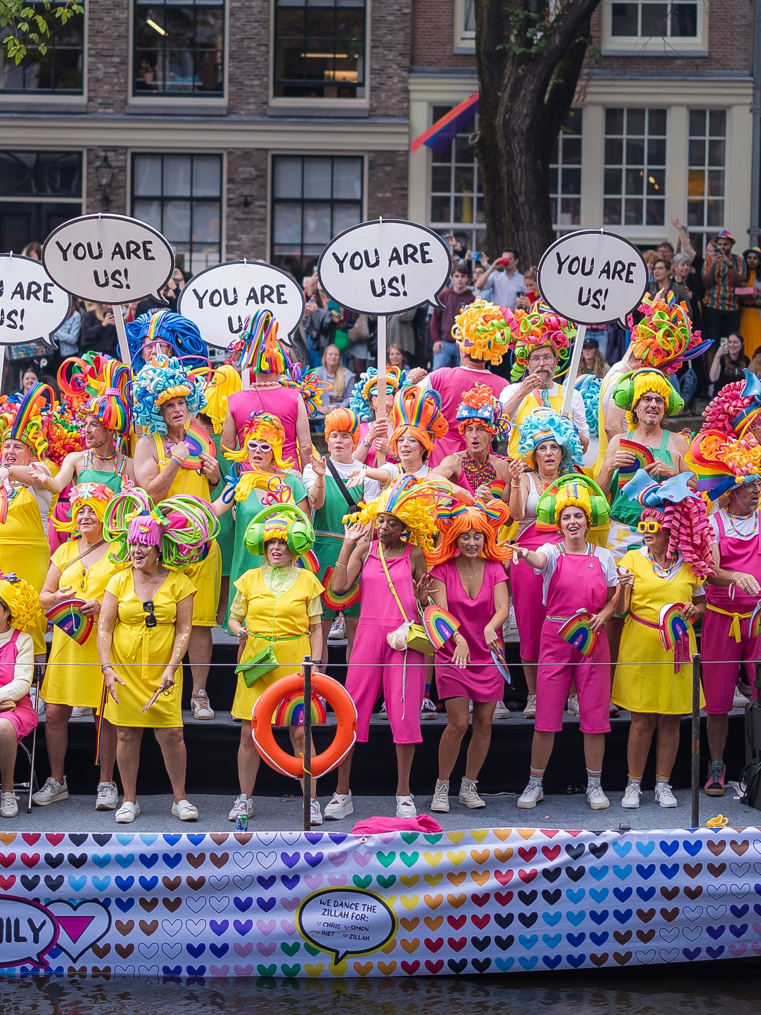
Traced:
<path id="1" fill-rule="evenodd" d="M 126 215 L 81 215 L 51 232 L 43 264 L 62 289 L 96 302 L 166 300 L 160 289 L 175 270 L 175 252 L 152 226 Z"/>

